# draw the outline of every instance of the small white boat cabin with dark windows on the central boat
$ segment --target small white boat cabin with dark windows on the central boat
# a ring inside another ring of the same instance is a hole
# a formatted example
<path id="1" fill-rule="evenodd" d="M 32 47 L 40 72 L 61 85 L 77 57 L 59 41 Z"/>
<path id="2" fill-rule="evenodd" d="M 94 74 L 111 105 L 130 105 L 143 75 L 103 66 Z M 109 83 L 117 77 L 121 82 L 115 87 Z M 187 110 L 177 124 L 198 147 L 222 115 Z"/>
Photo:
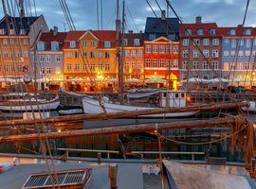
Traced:
<path id="1" fill-rule="evenodd" d="M 186 94 L 186 91 L 160 91 L 159 106 L 162 108 L 185 107 L 187 100 Z"/>

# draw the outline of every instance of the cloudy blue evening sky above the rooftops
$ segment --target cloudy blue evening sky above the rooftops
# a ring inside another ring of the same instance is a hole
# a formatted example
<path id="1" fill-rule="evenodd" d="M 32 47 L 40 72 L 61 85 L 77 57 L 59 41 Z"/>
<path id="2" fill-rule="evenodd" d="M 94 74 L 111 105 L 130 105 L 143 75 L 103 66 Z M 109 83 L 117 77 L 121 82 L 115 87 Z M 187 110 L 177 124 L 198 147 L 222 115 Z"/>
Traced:
<path id="1" fill-rule="evenodd" d="M 15 2 L 17 0 L 8 1 Z M 26 9 L 26 12 L 28 11 L 29 15 L 33 16 L 43 14 L 49 28 L 58 26 L 59 31 L 69 30 L 64 17 L 64 11 L 60 6 L 60 0 L 24 1 L 35 2 L 35 6 L 31 5 L 31 9 Z M 99 11 L 97 11 L 97 2 Z M 148 0 L 148 2 L 150 5 L 147 3 L 147 0 L 125 0 L 126 31 L 144 31 L 147 17 L 155 17 L 155 14 L 157 17 L 160 17 L 160 9 L 167 9 L 166 0 Z M 155 2 L 159 4 L 160 9 Z M 201 16 L 203 23 L 216 22 L 218 26 L 241 25 L 247 6 L 247 0 L 170 0 L 170 3 L 183 23 L 194 23 L 195 17 Z M 77 30 L 115 30 L 117 0 L 66 0 L 66 4 Z M 119 9 L 121 10 L 121 8 L 122 0 L 119 0 Z M 255 8 L 256 0 L 251 0 L 245 26 L 256 26 Z M 0 16 L 3 17 L 2 4 L 0 9 Z M 99 12 L 99 16 L 97 12 Z M 121 16 L 121 11 L 119 15 Z M 169 9 L 169 17 L 175 17 L 171 9 Z"/>

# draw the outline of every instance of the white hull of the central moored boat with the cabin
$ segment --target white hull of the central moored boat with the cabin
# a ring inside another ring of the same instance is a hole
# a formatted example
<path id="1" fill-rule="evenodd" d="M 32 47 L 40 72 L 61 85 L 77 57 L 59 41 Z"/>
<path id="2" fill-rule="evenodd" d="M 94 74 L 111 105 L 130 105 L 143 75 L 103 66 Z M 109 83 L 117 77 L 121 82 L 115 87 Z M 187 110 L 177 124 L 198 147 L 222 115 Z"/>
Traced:
<path id="1" fill-rule="evenodd" d="M 134 112 L 134 111 L 145 111 L 145 110 L 155 110 L 151 107 L 135 107 L 135 106 L 125 106 L 119 104 L 112 104 L 103 102 L 105 112 Z M 102 113 L 104 112 L 100 102 L 98 100 L 83 97 L 82 106 L 84 113 Z M 172 113 L 160 113 L 160 114 L 149 114 L 149 115 L 139 115 L 140 117 L 188 117 L 192 116 L 198 111 L 193 112 L 172 112 Z"/>

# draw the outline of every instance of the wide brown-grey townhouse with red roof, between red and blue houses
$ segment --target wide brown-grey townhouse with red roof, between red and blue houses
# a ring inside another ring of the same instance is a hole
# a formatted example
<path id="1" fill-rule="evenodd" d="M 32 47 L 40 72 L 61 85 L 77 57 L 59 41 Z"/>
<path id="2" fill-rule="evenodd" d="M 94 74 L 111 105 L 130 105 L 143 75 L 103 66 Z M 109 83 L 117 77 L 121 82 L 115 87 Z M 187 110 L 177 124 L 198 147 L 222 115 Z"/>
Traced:
<path id="1" fill-rule="evenodd" d="M 200 79 L 221 76 L 222 34 L 216 23 L 202 23 L 201 19 L 197 16 L 194 24 L 180 25 L 180 79 L 196 77 L 197 87 L 208 88 Z"/>

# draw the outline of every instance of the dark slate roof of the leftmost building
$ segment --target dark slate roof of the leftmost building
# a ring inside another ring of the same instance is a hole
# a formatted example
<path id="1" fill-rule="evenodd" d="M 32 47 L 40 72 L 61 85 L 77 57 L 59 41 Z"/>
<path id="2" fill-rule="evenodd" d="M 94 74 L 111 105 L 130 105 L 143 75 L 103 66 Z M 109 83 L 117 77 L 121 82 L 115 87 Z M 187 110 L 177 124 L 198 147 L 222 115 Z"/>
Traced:
<path id="1" fill-rule="evenodd" d="M 0 28 L 7 29 L 8 24 L 10 29 L 15 29 L 16 33 L 19 34 L 20 29 L 25 29 L 26 34 L 29 33 L 30 26 L 38 19 L 38 16 L 32 16 L 32 17 L 12 17 L 8 14 L 5 15 L 1 21 L 0 21 Z M 6 34 L 9 34 L 9 31 L 7 31 Z"/>

